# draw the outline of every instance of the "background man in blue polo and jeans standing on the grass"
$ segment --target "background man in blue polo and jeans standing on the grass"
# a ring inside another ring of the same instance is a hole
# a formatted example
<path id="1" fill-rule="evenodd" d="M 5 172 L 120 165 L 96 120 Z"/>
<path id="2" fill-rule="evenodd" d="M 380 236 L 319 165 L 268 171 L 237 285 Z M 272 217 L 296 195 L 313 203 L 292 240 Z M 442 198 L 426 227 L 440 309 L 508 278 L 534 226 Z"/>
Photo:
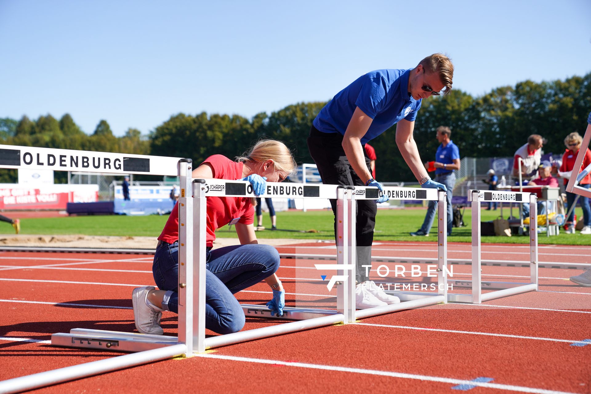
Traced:
<path id="1" fill-rule="evenodd" d="M 436 138 L 437 141 L 441 142 L 441 145 L 439 145 L 435 154 L 435 180 L 446 185 L 447 188 L 447 235 L 452 235 L 452 193 L 453 187 L 456 185 L 456 174 L 454 174 L 454 171 L 460 169 L 460 151 L 457 149 L 457 145 L 450 139 L 450 136 L 452 136 L 452 131 L 449 127 L 439 126 L 437 128 Z M 427 167 L 427 164 L 425 164 L 425 167 Z M 435 219 L 436 210 L 437 201 L 429 201 L 423 226 L 414 233 L 410 233 L 410 235 L 429 235 L 431 226 L 433 226 L 433 219 Z"/>

